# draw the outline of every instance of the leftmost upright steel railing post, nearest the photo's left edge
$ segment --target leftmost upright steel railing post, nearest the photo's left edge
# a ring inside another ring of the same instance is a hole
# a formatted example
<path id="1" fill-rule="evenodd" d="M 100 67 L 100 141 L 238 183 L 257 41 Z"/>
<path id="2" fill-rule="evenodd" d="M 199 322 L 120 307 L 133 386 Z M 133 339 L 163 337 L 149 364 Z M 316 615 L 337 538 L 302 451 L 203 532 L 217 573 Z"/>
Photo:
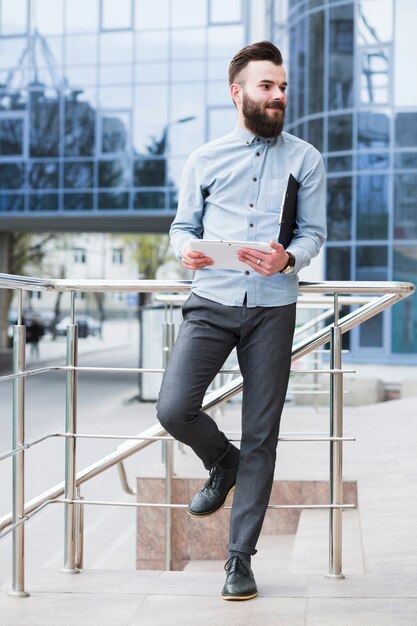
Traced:
<path id="1" fill-rule="evenodd" d="M 13 373 L 24 372 L 26 368 L 26 326 L 22 324 L 23 294 L 18 291 L 18 319 L 13 328 Z M 13 380 L 13 449 L 25 443 L 25 378 Z M 13 518 L 16 524 L 25 515 L 25 452 L 21 450 L 13 456 Z M 13 531 L 12 589 L 9 595 L 27 598 L 25 591 L 25 525 L 20 524 Z"/>

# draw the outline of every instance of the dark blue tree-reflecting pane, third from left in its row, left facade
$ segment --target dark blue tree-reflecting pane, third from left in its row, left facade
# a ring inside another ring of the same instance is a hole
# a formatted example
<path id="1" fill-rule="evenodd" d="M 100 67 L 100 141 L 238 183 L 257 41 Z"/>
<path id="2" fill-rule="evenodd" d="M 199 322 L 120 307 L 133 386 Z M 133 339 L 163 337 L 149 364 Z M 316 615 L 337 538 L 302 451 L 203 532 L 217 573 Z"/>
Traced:
<path id="1" fill-rule="evenodd" d="M 95 151 L 96 112 L 76 98 L 65 102 L 64 152 L 66 156 L 92 156 Z"/>

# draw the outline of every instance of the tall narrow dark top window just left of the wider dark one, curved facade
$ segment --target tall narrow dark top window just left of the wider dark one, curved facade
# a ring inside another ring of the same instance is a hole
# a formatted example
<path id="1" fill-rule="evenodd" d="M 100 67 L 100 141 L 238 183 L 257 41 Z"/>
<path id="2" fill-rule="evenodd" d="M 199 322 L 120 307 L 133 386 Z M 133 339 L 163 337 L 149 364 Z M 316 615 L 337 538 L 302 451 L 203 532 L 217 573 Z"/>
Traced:
<path id="1" fill-rule="evenodd" d="M 310 15 L 309 111 L 323 111 L 324 12 Z"/>

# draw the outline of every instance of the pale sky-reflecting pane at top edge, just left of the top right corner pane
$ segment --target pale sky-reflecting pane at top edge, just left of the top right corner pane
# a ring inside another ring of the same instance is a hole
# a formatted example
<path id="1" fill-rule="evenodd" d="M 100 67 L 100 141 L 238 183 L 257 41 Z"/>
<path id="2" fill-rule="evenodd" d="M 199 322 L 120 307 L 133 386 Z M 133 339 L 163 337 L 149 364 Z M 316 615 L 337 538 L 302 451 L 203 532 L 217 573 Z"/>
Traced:
<path id="1" fill-rule="evenodd" d="M 392 0 L 360 0 L 358 43 L 389 42 L 392 40 L 392 30 Z"/>

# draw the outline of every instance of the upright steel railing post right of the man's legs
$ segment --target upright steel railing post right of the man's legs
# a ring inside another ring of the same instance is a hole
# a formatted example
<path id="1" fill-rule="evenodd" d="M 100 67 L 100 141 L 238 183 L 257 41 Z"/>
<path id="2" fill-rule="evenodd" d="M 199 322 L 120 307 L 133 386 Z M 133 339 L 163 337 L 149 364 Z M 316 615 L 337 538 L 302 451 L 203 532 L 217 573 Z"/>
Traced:
<path id="1" fill-rule="evenodd" d="M 334 325 L 331 328 L 330 375 L 330 436 L 343 436 L 343 374 L 342 329 L 339 326 L 339 303 L 334 296 Z M 343 442 L 330 442 L 330 501 L 343 503 Z M 342 509 L 330 509 L 329 519 L 329 578 L 344 578 L 342 573 Z"/>

